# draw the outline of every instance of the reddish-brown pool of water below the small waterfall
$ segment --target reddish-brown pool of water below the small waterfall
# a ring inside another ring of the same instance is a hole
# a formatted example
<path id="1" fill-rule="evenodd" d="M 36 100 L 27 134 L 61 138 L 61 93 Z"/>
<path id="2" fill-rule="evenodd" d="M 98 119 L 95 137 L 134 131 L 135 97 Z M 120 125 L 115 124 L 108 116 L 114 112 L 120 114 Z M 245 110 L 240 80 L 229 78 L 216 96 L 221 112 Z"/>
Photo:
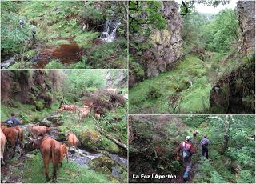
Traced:
<path id="1" fill-rule="evenodd" d="M 47 46 L 39 51 L 39 54 L 32 59 L 34 68 L 43 69 L 50 60 L 58 59 L 65 66 L 80 61 L 82 58 L 82 49 L 76 42 L 62 44 L 59 46 Z"/>

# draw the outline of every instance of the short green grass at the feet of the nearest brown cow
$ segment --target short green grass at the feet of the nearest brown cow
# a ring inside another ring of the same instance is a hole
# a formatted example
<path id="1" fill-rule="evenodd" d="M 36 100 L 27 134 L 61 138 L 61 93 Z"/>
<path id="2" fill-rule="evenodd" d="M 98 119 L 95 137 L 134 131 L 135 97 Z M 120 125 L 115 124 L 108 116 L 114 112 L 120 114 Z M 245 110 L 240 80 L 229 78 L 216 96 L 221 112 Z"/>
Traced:
<path id="1" fill-rule="evenodd" d="M 44 183 L 46 175 L 43 173 L 42 156 L 38 152 L 34 158 L 28 158 L 24 166 L 23 181 L 25 183 Z M 53 167 L 50 164 L 49 175 L 52 178 Z M 63 161 L 62 167 L 58 169 L 57 182 L 59 183 L 95 183 L 95 182 L 110 182 L 104 174 L 97 173 L 94 170 L 87 170 L 85 167 L 66 160 Z"/>

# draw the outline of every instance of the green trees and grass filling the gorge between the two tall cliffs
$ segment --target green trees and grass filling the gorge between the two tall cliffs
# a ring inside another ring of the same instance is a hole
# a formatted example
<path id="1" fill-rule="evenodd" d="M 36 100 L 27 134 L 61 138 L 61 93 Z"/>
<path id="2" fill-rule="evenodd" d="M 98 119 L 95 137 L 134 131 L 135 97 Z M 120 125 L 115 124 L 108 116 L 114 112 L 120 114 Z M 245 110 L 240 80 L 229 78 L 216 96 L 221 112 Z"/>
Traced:
<path id="1" fill-rule="evenodd" d="M 227 107 L 210 105 L 213 87 L 222 78 L 228 81 L 232 72 L 233 75 L 239 76 L 246 71 L 248 74 L 254 71 L 254 55 L 248 58 L 238 54 L 241 30 L 238 26 L 236 10 L 222 10 L 218 14 L 200 14 L 194 10 L 193 3 L 190 7 L 192 8 L 188 13 L 181 16 L 183 57 L 170 71 L 159 74 L 158 77 L 146 78 L 145 66 L 149 65 L 146 62 L 158 62 L 152 60 L 150 56 L 146 58 L 147 50 L 152 48 L 152 43 L 138 44 L 134 39 L 130 42 L 130 50 L 133 54 L 130 55 L 129 72 L 135 81 L 129 91 L 130 114 L 225 114 L 228 111 Z M 137 14 L 139 12 L 138 10 Z M 152 16 L 156 14 L 152 10 L 150 13 Z M 146 23 L 145 27 L 150 28 L 151 22 Z M 155 29 L 162 27 L 156 26 Z M 137 34 L 139 33 L 133 35 Z M 246 81 L 248 79 L 249 81 Z M 248 82 L 254 83 L 253 76 L 235 80 L 234 83 L 237 84 L 235 89 L 246 86 Z M 222 83 L 225 83 L 224 79 Z M 230 89 L 230 86 L 226 86 L 223 90 Z M 254 98 L 254 94 L 248 90 L 240 95 L 241 98 L 249 98 L 249 96 Z M 254 101 L 248 102 L 248 106 L 254 106 L 253 103 Z M 240 113 L 244 112 L 240 110 Z"/>

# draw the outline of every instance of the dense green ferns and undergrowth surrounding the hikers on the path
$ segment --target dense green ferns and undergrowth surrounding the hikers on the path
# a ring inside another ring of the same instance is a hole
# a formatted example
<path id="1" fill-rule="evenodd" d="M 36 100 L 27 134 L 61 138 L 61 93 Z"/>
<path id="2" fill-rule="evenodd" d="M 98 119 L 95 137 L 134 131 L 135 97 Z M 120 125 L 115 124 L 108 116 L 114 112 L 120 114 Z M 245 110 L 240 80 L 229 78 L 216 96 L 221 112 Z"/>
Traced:
<path id="1" fill-rule="evenodd" d="M 182 157 L 178 145 L 192 138 L 196 153 L 190 182 L 254 183 L 255 117 L 243 116 L 132 116 L 130 118 L 130 181 L 182 182 Z M 198 135 L 193 136 L 193 131 Z M 216 134 L 218 132 L 218 134 Z M 210 158 L 201 157 L 200 141 L 210 139 Z M 223 147 L 225 138 L 228 143 Z M 176 158 L 176 159 L 175 159 Z M 132 179 L 132 174 L 176 174 L 176 179 Z"/>

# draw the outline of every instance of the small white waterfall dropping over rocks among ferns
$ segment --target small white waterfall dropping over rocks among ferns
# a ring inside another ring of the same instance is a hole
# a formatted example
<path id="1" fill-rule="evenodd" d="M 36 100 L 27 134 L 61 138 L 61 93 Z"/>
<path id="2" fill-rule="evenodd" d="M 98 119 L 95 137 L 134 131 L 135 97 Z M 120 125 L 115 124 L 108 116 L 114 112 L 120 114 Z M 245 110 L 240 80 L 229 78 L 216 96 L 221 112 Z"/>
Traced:
<path id="1" fill-rule="evenodd" d="M 100 38 L 105 42 L 113 42 L 114 38 L 116 38 L 116 32 L 120 24 L 120 21 L 116 18 L 107 20 Z"/>

